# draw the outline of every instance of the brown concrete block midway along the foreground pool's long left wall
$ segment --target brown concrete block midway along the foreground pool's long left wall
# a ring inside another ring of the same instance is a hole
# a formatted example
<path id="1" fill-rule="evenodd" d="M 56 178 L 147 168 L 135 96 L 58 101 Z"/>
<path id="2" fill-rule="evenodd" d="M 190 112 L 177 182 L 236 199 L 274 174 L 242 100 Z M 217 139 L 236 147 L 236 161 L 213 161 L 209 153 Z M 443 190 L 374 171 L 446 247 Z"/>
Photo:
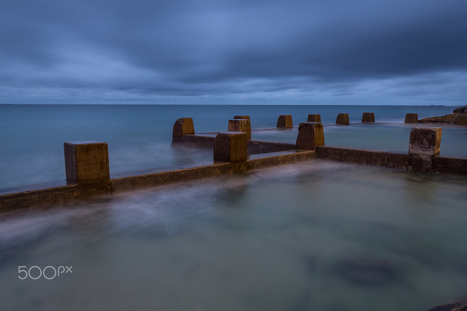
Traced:
<path id="1" fill-rule="evenodd" d="M 247 133 L 218 133 L 214 142 L 214 160 L 224 162 L 246 161 Z"/>

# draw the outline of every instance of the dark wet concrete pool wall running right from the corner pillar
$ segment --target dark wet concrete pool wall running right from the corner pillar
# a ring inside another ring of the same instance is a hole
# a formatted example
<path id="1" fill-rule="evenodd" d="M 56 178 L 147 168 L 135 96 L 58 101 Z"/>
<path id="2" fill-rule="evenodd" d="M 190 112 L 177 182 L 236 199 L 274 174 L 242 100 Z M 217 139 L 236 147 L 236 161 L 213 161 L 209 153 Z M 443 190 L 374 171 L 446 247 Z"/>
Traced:
<path id="1" fill-rule="evenodd" d="M 422 158 L 416 154 L 409 154 L 409 152 L 370 148 L 356 149 L 345 146 L 317 146 L 316 158 L 415 171 L 419 171 L 423 166 Z M 429 173 L 467 175 L 467 157 L 434 156 Z"/>

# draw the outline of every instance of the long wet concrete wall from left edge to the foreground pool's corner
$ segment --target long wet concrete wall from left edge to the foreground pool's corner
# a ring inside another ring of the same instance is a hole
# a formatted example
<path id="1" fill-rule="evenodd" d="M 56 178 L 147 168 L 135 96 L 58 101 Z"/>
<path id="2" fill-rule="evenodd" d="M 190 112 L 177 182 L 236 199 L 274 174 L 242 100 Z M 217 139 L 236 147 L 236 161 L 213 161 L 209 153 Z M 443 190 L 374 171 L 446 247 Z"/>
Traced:
<path id="1" fill-rule="evenodd" d="M 110 180 L 95 183 L 58 181 L 0 189 L 0 212 L 41 207 L 102 194 L 119 193 L 228 173 L 243 173 L 256 168 L 313 159 L 315 151 L 290 150 L 252 155 L 246 161 L 207 161 L 180 166 L 118 173 Z"/>

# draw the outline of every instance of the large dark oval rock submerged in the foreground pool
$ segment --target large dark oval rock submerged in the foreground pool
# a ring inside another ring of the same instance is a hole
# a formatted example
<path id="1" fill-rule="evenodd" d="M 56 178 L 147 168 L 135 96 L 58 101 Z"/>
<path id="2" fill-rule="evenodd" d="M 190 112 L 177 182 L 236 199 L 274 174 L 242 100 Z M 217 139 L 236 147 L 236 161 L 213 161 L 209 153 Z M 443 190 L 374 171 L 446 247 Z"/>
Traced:
<path id="1" fill-rule="evenodd" d="M 337 270 L 341 276 L 361 285 L 382 285 L 396 277 L 394 264 L 384 259 L 344 259 L 338 263 Z"/>

